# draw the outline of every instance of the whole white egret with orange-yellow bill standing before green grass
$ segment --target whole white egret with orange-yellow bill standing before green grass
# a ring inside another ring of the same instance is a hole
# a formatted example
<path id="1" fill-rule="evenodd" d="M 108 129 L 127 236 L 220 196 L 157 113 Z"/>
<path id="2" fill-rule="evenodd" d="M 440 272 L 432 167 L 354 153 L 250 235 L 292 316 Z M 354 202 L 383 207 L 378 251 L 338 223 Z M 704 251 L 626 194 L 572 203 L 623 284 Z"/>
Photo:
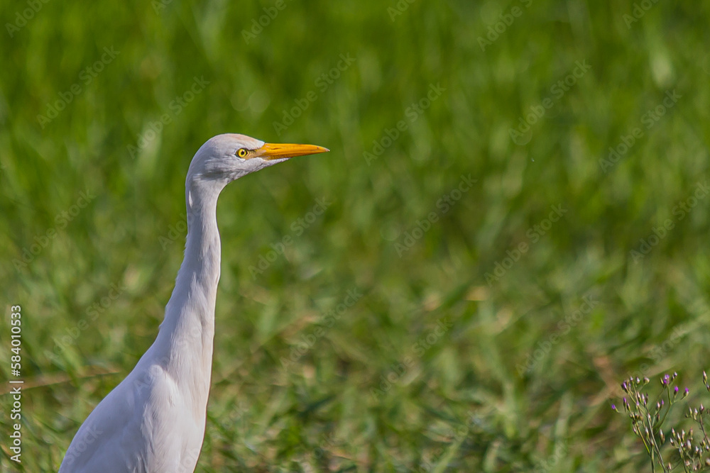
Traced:
<path id="1" fill-rule="evenodd" d="M 328 151 L 217 135 L 192 158 L 185 180 L 187 243 L 155 342 L 82 424 L 60 473 L 193 472 L 212 371 L 219 281 L 217 197 L 226 184 L 290 157 Z"/>

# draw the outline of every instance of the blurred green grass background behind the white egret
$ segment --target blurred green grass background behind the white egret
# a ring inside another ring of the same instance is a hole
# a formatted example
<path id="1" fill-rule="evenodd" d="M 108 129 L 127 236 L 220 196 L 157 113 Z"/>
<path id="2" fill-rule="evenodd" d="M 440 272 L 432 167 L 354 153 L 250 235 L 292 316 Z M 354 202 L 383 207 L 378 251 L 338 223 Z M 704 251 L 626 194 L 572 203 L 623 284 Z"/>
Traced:
<path id="1" fill-rule="evenodd" d="M 153 342 L 182 260 L 187 165 L 226 132 L 331 152 L 222 194 L 198 472 L 649 469 L 609 404 L 629 373 L 677 370 L 695 387 L 706 367 L 710 199 L 683 218 L 674 207 L 709 177 L 710 6 L 658 2 L 629 27 L 630 1 L 399 3 L 391 19 L 395 1 L 285 0 L 249 41 L 243 30 L 275 2 L 50 0 L 5 26 L 0 372 L 11 377 L 10 306 L 21 304 L 26 385 L 23 462 L 3 440 L 2 471 L 57 469 Z M 482 50 L 513 7 L 520 15 Z M 3 23 L 28 8 L 5 1 Z M 104 48 L 119 53 L 82 74 Z M 340 55 L 355 61 L 322 90 Z M 591 69 L 552 94 L 577 61 Z M 178 112 L 171 101 L 195 77 L 209 84 Z M 80 92 L 40 123 L 72 84 Z M 410 121 L 431 84 L 446 90 Z M 646 128 L 673 90 L 677 104 Z M 273 123 L 310 91 L 317 99 L 278 135 Z M 510 128 L 547 97 L 513 143 Z M 407 130 L 366 162 L 400 120 Z M 602 169 L 637 127 L 643 136 Z M 444 212 L 437 201 L 469 174 L 476 184 Z M 332 204 L 297 234 L 316 199 Z M 285 255 L 253 277 L 285 235 Z M 521 243 L 528 251 L 505 260 Z M 486 277 L 497 265 L 509 268 Z M 353 290 L 361 299 L 327 326 Z M 10 396 L 0 403 L 7 413 Z M 9 432 L 8 416 L 0 424 Z"/>

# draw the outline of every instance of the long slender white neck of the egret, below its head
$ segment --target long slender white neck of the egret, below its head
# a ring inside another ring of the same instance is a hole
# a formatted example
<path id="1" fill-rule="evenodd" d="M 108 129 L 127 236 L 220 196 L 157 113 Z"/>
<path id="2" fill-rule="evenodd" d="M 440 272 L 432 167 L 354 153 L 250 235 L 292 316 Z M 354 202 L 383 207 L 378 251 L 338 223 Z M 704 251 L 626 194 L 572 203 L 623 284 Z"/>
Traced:
<path id="1" fill-rule="evenodd" d="M 212 372 L 214 304 L 221 256 L 217 197 L 222 187 L 207 184 L 187 183 L 185 259 L 154 344 L 163 361 L 161 365 L 192 397 L 195 416 L 202 418 Z"/>

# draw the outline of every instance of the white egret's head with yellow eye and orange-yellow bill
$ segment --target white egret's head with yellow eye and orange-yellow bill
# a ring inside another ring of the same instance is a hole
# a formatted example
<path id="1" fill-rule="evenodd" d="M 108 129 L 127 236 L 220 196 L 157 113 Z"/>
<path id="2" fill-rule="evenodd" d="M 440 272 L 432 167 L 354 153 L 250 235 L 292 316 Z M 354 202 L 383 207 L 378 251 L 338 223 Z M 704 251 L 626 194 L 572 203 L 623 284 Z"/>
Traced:
<path id="1" fill-rule="evenodd" d="M 209 138 L 195 153 L 187 171 L 187 184 L 202 182 L 224 187 L 234 179 L 291 157 L 327 151 L 315 145 L 264 143 L 233 133 L 217 135 Z"/>

